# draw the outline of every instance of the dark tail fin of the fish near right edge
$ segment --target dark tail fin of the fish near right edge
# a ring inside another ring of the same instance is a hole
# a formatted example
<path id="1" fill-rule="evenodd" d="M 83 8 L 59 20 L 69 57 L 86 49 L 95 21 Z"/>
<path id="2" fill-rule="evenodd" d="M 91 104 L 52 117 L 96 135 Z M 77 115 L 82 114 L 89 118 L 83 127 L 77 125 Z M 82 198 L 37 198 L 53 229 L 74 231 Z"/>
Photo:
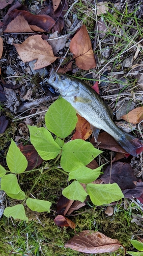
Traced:
<path id="1" fill-rule="evenodd" d="M 134 157 L 143 151 L 143 141 L 130 134 L 124 133 L 120 140 L 118 140 L 118 143 Z"/>

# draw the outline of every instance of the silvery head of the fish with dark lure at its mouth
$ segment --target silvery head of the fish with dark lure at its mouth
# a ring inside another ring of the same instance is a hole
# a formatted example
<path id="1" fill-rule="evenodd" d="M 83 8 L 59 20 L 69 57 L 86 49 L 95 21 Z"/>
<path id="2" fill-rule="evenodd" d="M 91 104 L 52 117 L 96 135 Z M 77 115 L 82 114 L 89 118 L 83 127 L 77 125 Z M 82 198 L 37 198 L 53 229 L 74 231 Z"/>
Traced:
<path id="1" fill-rule="evenodd" d="M 79 84 L 75 82 L 71 77 L 63 73 L 57 73 L 52 70 L 48 83 L 59 91 L 62 97 L 76 96 L 79 92 Z"/>

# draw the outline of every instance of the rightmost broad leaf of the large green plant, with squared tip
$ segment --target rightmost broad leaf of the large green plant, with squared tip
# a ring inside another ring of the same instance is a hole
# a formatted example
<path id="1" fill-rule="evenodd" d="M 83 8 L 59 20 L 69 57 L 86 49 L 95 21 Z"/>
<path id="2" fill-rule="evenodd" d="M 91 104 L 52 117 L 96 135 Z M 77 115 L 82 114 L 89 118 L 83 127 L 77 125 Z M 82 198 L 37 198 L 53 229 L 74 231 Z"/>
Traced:
<path id="1" fill-rule="evenodd" d="M 113 184 L 88 184 L 87 192 L 95 205 L 109 204 L 124 198 L 121 188 Z"/>

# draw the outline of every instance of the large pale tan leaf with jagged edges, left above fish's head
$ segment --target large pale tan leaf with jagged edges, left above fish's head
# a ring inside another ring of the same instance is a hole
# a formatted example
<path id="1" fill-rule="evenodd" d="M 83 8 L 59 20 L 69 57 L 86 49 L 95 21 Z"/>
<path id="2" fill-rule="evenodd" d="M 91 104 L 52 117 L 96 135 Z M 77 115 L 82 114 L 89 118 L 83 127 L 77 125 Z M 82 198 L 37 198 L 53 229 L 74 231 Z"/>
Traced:
<path id="1" fill-rule="evenodd" d="M 41 35 L 30 36 L 21 45 L 14 44 L 14 46 L 23 62 L 37 59 L 34 70 L 50 65 L 57 58 L 53 55 L 51 46 L 41 38 Z"/>

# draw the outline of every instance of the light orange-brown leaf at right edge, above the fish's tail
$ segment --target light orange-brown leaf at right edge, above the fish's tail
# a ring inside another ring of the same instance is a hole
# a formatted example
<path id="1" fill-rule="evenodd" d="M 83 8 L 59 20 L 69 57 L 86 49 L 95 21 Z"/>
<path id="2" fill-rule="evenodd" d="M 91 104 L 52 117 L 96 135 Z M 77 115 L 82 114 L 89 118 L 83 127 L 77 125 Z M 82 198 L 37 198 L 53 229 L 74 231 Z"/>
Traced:
<path id="1" fill-rule="evenodd" d="M 143 119 L 143 106 L 130 111 L 127 115 L 122 116 L 122 119 L 130 123 L 139 123 Z"/>

